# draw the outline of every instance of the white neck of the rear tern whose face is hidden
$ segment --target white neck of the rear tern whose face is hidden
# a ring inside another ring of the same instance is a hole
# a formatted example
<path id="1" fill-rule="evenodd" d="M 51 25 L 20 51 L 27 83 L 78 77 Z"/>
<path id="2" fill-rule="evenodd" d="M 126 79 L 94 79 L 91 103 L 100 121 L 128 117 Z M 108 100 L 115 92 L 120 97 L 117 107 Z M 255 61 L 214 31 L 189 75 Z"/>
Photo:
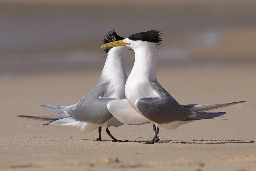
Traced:
<path id="1" fill-rule="evenodd" d="M 114 47 L 108 51 L 108 56 L 102 70 L 100 81 L 125 82 L 127 74 L 124 68 L 124 54 Z"/>

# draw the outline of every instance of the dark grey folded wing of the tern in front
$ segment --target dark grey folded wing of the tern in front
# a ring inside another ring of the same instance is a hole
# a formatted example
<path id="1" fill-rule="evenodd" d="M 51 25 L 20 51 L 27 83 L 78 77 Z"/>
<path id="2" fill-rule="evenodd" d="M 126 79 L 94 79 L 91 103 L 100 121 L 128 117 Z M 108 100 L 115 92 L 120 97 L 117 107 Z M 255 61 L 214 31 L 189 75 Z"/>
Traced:
<path id="1" fill-rule="evenodd" d="M 157 82 L 150 82 L 159 97 L 140 97 L 136 100 L 136 107 L 141 114 L 157 124 L 167 124 L 184 120 L 192 113 L 180 104 Z"/>

